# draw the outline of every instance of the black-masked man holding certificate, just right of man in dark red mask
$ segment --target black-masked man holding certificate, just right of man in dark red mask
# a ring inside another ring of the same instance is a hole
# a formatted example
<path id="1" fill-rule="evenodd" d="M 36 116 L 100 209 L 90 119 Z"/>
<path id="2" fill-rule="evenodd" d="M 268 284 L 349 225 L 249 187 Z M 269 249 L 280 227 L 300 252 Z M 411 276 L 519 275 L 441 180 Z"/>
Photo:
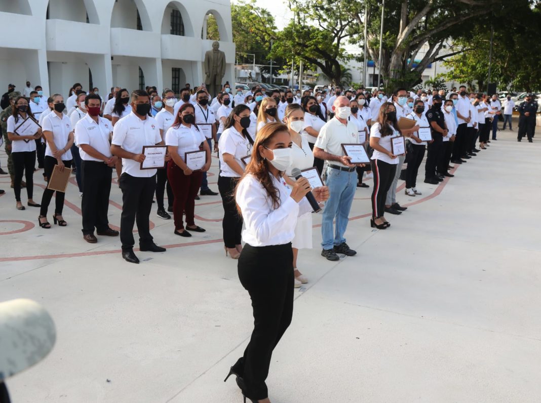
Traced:
<path id="1" fill-rule="evenodd" d="M 122 215 L 120 240 L 122 257 L 129 263 L 139 263 L 133 252 L 133 228 L 137 217 L 139 247 L 141 252 L 165 252 L 150 235 L 149 216 L 156 188 L 156 169 L 141 169 L 145 160 L 144 146 L 164 144 L 158 122 L 148 116 L 150 97 L 145 91 L 131 94 L 131 113 L 116 122 L 113 129 L 111 154 L 122 158 L 122 175 L 118 184 L 122 190 Z"/>

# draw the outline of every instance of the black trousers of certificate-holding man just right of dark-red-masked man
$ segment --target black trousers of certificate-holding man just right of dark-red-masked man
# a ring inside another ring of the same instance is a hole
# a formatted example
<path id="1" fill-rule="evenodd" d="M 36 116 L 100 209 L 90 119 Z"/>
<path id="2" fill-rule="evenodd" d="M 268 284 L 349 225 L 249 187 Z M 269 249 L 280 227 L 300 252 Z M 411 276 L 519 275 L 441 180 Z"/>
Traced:
<path id="1" fill-rule="evenodd" d="M 137 222 L 139 246 L 153 243 L 150 235 L 150 210 L 156 189 L 156 175 L 149 177 L 131 176 L 127 173 L 120 175 L 118 180 L 122 190 L 122 214 L 120 216 L 120 241 L 122 250 L 133 249 L 134 223 Z M 83 193 L 84 194 L 84 193 Z"/>

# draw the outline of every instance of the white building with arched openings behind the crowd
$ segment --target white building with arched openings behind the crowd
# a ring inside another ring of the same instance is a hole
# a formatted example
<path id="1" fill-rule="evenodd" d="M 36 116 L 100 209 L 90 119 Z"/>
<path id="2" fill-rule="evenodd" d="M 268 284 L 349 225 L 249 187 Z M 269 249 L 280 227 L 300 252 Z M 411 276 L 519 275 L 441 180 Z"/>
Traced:
<path id="1" fill-rule="evenodd" d="M 27 80 L 64 96 L 75 82 L 101 94 L 113 85 L 193 88 L 212 49 L 209 14 L 226 54 L 223 83 L 233 83 L 229 0 L 0 0 L 0 91 L 9 83 L 22 91 Z"/>

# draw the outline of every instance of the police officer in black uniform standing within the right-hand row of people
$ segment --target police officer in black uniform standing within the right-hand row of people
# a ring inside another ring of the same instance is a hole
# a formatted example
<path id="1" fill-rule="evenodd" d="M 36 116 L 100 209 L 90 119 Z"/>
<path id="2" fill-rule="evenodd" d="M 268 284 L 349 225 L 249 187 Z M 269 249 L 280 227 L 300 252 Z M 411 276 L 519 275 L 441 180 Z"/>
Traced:
<path id="1" fill-rule="evenodd" d="M 428 109 L 426 118 L 432 130 L 432 143 L 428 143 L 427 156 L 425 164 L 425 183 L 438 184 L 444 180 L 443 175 L 437 173 L 436 167 L 439 158 L 443 152 L 443 137 L 447 135 L 447 126 L 445 125 L 445 116 L 441 111 L 441 97 L 434 95 L 432 97 L 432 108 Z"/>

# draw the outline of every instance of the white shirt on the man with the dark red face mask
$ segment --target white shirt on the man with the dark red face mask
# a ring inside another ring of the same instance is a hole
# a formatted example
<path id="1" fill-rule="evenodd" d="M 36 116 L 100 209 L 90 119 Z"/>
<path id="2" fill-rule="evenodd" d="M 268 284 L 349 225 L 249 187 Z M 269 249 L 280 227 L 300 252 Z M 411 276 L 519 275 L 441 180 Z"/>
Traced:
<path id="1" fill-rule="evenodd" d="M 108 119 L 98 116 L 98 122 L 86 114 L 75 124 L 75 141 L 77 146 L 88 144 L 98 153 L 102 153 L 106 157 L 111 157 L 111 133 L 113 133 L 113 125 Z M 99 158 L 92 157 L 84 152 L 82 148 L 79 150 L 81 160 L 83 161 L 98 161 L 103 162 Z"/>

